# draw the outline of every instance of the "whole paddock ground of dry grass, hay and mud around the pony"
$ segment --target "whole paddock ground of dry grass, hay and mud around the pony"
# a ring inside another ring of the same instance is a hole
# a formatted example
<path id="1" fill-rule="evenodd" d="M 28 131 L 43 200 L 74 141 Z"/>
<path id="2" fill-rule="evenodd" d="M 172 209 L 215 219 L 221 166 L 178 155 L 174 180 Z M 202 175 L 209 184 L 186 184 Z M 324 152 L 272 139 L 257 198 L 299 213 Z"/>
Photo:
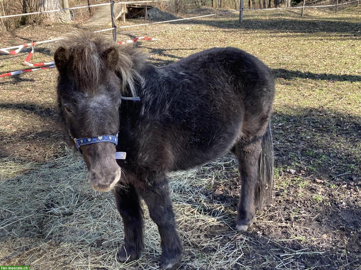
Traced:
<path id="1" fill-rule="evenodd" d="M 160 40 L 137 46 L 156 65 L 235 46 L 274 69 L 278 91 L 275 199 L 249 232 L 234 231 L 239 186 L 233 156 L 170 175 L 185 247 L 180 269 L 360 269 L 360 10 L 307 11 L 303 19 L 262 11 L 245 14 L 242 25 L 234 14 L 146 28 Z M 76 27 L 19 29 L 4 42 L 43 40 Z M 142 36 L 144 28 L 118 35 Z M 54 46 L 39 50 L 36 60 L 51 60 Z M 1 73 L 22 68 L 24 55 L 0 56 Z M 55 82 L 55 69 L 0 81 L 0 264 L 159 269 L 160 239 L 147 211 L 143 256 L 116 262 L 121 218 L 110 193 L 91 190 L 83 162 L 54 125 Z"/>

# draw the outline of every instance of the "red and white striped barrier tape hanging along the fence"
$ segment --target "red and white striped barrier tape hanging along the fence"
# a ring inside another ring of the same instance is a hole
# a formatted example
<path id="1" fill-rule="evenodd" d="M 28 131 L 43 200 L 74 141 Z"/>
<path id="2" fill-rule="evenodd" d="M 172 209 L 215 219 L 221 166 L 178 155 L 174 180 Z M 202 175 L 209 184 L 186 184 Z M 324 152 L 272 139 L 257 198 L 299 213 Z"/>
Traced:
<path id="1" fill-rule="evenodd" d="M 132 42 L 136 42 L 138 40 L 158 40 L 158 39 L 153 39 L 152 37 L 147 37 L 147 36 L 144 36 L 144 37 L 136 37 L 135 39 L 131 39 L 131 40 L 127 40 L 127 41 L 119 41 L 117 42 L 118 44 L 127 44 L 127 43 L 132 43 Z M 24 73 L 24 72 L 30 72 L 30 71 L 36 71 L 36 70 L 40 70 L 40 69 L 47 69 L 47 68 L 52 68 L 52 67 L 55 67 L 55 63 L 54 62 L 44 62 L 44 63 L 29 63 L 32 55 L 34 54 L 34 45 L 36 44 L 36 42 L 33 42 L 31 43 L 32 44 L 32 49 L 30 51 L 30 54 L 26 57 L 25 59 L 25 64 L 27 64 L 28 66 L 30 67 L 39 67 L 39 66 L 47 66 L 47 65 L 51 65 L 51 66 L 48 66 L 48 67 L 40 67 L 40 68 L 32 68 L 32 69 L 23 69 L 23 70 L 18 70 L 18 71 L 13 71 L 13 72 L 8 72 L 8 73 L 4 73 L 4 74 L 1 74 L 0 75 L 0 78 L 1 77 L 5 77 L 5 76 L 13 76 L 13 75 L 18 75 L 18 74 L 21 74 L 21 73 Z M 24 45 L 27 45 L 27 44 L 24 44 Z M 19 47 L 19 49 L 17 49 L 16 53 L 12 53 L 12 52 L 8 52 L 6 51 L 7 53 L 9 54 L 17 54 L 23 47 L 26 47 L 26 46 L 23 46 L 21 45 Z M 3 50 L 3 49 L 1 49 Z"/>

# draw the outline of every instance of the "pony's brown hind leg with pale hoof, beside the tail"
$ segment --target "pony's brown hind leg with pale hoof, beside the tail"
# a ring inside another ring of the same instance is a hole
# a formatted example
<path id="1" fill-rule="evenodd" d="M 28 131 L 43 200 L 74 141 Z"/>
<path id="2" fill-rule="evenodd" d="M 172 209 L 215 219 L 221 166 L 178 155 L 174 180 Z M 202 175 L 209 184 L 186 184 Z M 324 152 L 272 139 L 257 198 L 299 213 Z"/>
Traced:
<path id="1" fill-rule="evenodd" d="M 238 158 L 238 172 L 241 180 L 240 198 L 237 208 L 236 229 L 246 231 L 256 213 L 255 188 L 258 180 L 258 158 L 261 152 L 261 138 L 239 141 L 232 148 Z"/>

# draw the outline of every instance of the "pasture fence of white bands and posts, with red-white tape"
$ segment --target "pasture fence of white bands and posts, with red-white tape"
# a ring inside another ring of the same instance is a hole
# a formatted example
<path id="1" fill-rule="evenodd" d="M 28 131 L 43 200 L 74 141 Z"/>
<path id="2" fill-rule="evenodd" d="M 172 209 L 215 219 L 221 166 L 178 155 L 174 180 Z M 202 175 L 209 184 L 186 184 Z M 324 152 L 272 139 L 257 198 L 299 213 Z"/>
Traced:
<path id="1" fill-rule="evenodd" d="M 77 6 L 77 7 L 73 7 L 73 8 L 63 8 L 63 9 L 56 9 L 56 10 L 46 10 L 46 11 L 41 11 L 41 12 L 31 12 L 31 13 L 21 13 L 21 14 L 12 14 L 12 15 L 1 15 L 0 19 L 3 18 L 11 18 L 11 17 L 18 17 L 18 16 L 24 16 L 24 15 L 33 15 L 33 14 L 42 14 L 42 13 L 48 13 L 48 12 L 59 12 L 59 11 L 64 11 L 64 10 L 73 10 L 73 9 L 81 9 L 81 8 L 90 8 L 90 7 L 94 7 L 94 6 L 104 6 L 104 5 L 110 5 L 110 12 L 111 12 L 111 17 L 112 17 L 112 27 L 111 28 L 106 28 L 106 29 L 102 29 L 102 30 L 97 30 L 97 31 L 93 31 L 94 33 L 99 33 L 99 32 L 105 32 L 105 31 L 113 31 L 113 40 L 114 42 L 117 42 L 117 29 L 121 29 L 121 28 L 131 28 L 131 27 L 140 27 L 140 26 L 148 26 L 148 25 L 152 25 L 152 24 L 160 24 L 160 23 L 169 23 L 169 22 L 178 22 L 178 21 L 185 21 L 185 20 L 190 20 L 190 19 L 196 19 L 196 18 L 205 18 L 205 17 L 210 17 L 210 16 L 215 16 L 215 15 L 222 15 L 222 14 L 227 14 L 227 13 L 234 13 L 234 12 L 239 12 L 239 22 L 241 23 L 243 21 L 243 12 L 245 10 L 247 11 L 252 11 L 252 10 L 286 10 L 286 9 L 300 9 L 301 8 L 301 17 L 303 17 L 304 14 L 304 9 L 305 8 L 325 8 L 325 7 L 332 7 L 335 6 L 336 7 L 336 13 L 338 12 L 338 6 L 340 5 L 348 5 L 348 4 L 352 4 L 352 3 L 359 3 L 359 0 L 353 0 L 353 1 L 349 1 L 347 3 L 338 3 L 338 0 L 336 0 L 336 4 L 332 4 L 332 5 L 315 5 L 315 6 L 305 6 L 305 0 L 303 0 L 303 5 L 302 6 L 292 6 L 292 7 L 284 7 L 284 8 L 267 8 L 267 9 L 244 9 L 243 8 L 243 0 L 239 0 L 239 9 L 235 9 L 235 10 L 231 10 L 231 11 L 226 11 L 226 12 L 218 12 L 218 13 L 213 13 L 213 14 L 206 14 L 206 15 L 199 15 L 199 16 L 194 16 L 194 17 L 187 17 L 187 18 L 180 18 L 180 19 L 173 19 L 173 20 L 167 20 L 167 21 L 160 21 L 160 22 L 149 22 L 149 23 L 141 23 L 141 24 L 132 24 L 132 25 L 126 25 L 126 26 L 116 26 L 116 20 L 115 20 L 115 14 L 114 14 L 114 4 L 115 3 L 123 3 L 123 4 L 131 4 L 131 3 L 155 3 L 155 2 L 164 2 L 164 1 L 170 1 L 170 0 L 149 0 L 149 1 L 121 1 L 121 2 L 115 2 L 114 0 L 109 0 L 109 3 L 102 3 L 102 4 L 95 4 L 95 5 L 86 5 L 86 6 Z M 147 16 L 145 15 L 145 20 L 147 20 Z M 145 33 L 144 33 L 145 36 Z M 46 66 L 47 67 L 42 67 L 42 68 L 36 68 L 36 69 L 26 69 L 26 70 L 21 70 L 21 71 L 14 71 L 14 72 L 8 72 L 5 74 L 0 75 L 0 77 L 5 77 L 5 76 L 12 76 L 12 75 L 17 75 L 20 73 L 24 73 L 24 72 L 29 72 L 29 71 L 35 71 L 35 70 L 42 70 L 42 69 L 47 69 L 47 68 L 52 68 L 54 67 L 54 63 L 53 62 L 49 62 L 49 63 L 36 63 L 36 64 L 31 64 L 29 63 L 29 59 L 31 58 L 31 55 L 34 53 L 34 45 L 35 44 L 42 44 L 42 43 L 50 43 L 53 41 L 57 41 L 57 40 L 61 40 L 63 39 L 62 37 L 56 38 L 56 39 L 50 39 L 50 40 L 43 40 L 43 41 L 36 41 L 36 42 L 31 42 L 31 43 L 27 43 L 27 44 L 21 44 L 21 45 L 17 45 L 17 46 L 10 46 L 7 48 L 1 48 L 0 51 L 3 51 L 4 53 L 7 54 L 13 54 L 16 55 L 18 54 L 23 48 L 26 48 L 28 46 L 32 46 L 32 50 L 31 53 L 29 54 L 29 56 L 26 58 L 25 63 L 29 66 L 40 66 L 40 64 Z M 131 42 L 134 42 L 136 40 L 139 39 L 143 39 L 143 38 L 136 38 L 133 39 Z M 147 39 L 146 39 L 147 40 Z M 119 44 L 123 44 L 124 42 L 118 42 Z M 125 43 L 128 43 L 127 41 Z M 9 51 L 11 49 L 16 49 L 14 51 Z"/>

